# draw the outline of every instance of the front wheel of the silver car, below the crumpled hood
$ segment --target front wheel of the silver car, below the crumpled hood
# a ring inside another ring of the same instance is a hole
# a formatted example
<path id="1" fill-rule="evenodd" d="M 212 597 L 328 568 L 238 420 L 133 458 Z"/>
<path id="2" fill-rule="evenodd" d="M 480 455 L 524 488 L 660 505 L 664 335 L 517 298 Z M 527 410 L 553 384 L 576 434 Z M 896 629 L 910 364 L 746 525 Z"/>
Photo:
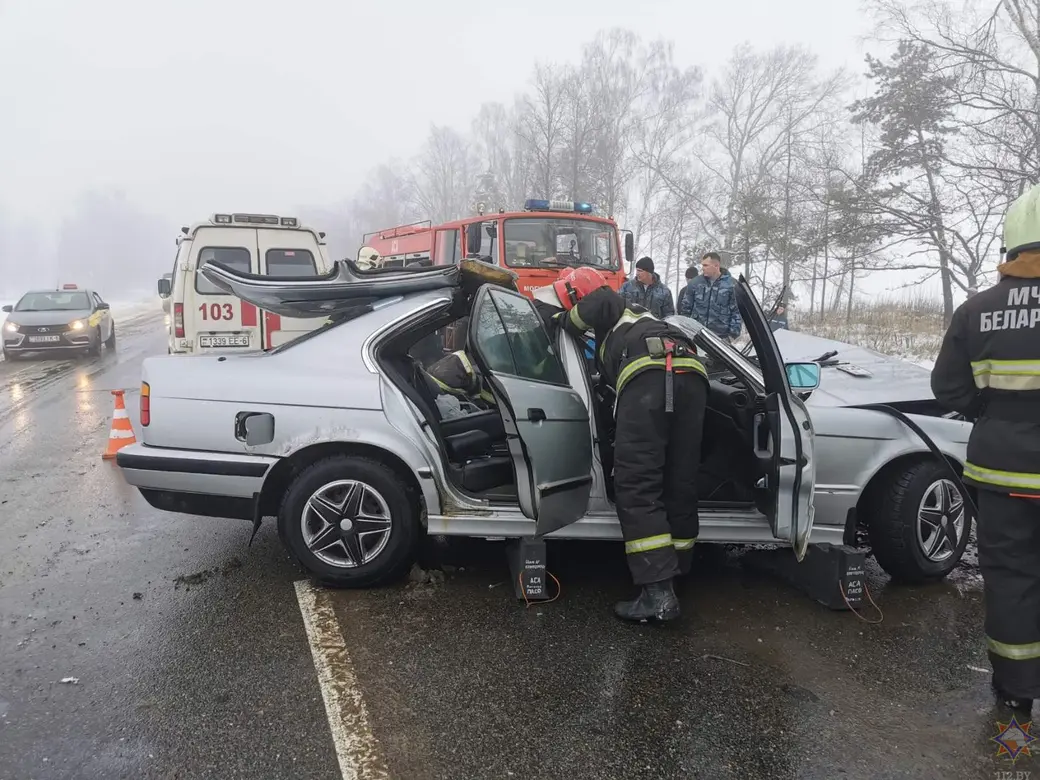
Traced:
<path id="1" fill-rule="evenodd" d="M 915 463 L 882 488 L 869 519 L 881 568 L 903 582 L 941 579 L 957 566 L 971 535 L 971 510 L 935 461 Z"/>

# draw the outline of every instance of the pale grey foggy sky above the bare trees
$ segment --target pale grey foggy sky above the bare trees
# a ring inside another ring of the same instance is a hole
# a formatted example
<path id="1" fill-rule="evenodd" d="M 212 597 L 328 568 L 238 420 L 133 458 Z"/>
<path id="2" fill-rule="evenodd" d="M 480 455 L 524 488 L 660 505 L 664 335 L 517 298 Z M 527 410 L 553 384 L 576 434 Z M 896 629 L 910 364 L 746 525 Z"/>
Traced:
<path id="1" fill-rule="evenodd" d="M 614 26 L 710 75 L 743 41 L 862 70 L 866 20 L 835 0 L 0 0 L 0 206 L 49 219 L 113 186 L 180 225 L 336 203 Z"/>

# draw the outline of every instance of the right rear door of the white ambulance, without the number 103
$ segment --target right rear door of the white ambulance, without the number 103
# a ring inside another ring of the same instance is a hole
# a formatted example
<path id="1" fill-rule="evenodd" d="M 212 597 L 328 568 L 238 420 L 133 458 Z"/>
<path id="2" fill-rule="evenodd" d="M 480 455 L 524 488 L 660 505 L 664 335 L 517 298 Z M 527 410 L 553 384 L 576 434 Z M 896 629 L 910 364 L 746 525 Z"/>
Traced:
<path id="1" fill-rule="evenodd" d="M 257 230 L 260 272 L 271 277 L 313 277 L 329 269 L 318 252 L 314 236 L 303 230 Z M 263 348 L 270 349 L 318 328 L 321 318 L 284 317 L 262 312 Z"/>

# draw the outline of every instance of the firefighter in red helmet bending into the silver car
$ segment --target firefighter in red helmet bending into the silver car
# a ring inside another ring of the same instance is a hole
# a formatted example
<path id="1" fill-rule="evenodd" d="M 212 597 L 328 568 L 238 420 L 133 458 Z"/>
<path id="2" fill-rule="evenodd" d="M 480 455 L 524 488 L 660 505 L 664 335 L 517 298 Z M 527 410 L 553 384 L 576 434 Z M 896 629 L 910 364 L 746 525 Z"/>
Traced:
<path id="1" fill-rule="evenodd" d="M 679 617 L 672 580 L 690 570 L 697 541 L 697 469 L 708 383 L 687 337 L 605 286 L 592 268 L 554 283 L 571 332 L 596 336 L 602 380 L 614 390 L 614 490 L 632 580 L 615 614 L 625 620 Z"/>

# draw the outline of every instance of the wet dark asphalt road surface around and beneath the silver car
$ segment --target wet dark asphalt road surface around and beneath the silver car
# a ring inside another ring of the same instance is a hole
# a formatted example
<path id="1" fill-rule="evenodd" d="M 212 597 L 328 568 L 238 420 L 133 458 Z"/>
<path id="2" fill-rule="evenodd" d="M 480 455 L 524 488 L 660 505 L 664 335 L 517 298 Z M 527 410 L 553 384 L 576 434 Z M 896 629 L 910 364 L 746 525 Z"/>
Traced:
<path id="1" fill-rule="evenodd" d="M 112 397 L 137 427 L 162 314 L 99 359 L 0 362 L 0 780 L 339 778 L 272 527 L 152 510 L 101 460 Z M 787 554 L 787 553 L 783 553 Z M 993 778 L 968 555 L 832 612 L 707 548 L 665 629 L 616 622 L 616 545 L 550 549 L 552 603 L 499 543 L 431 540 L 426 573 L 329 592 L 393 778 Z M 62 682 L 73 678 L 74 681 Z M 1025 775 L 1019 777 L 1024 778 Z"/>

